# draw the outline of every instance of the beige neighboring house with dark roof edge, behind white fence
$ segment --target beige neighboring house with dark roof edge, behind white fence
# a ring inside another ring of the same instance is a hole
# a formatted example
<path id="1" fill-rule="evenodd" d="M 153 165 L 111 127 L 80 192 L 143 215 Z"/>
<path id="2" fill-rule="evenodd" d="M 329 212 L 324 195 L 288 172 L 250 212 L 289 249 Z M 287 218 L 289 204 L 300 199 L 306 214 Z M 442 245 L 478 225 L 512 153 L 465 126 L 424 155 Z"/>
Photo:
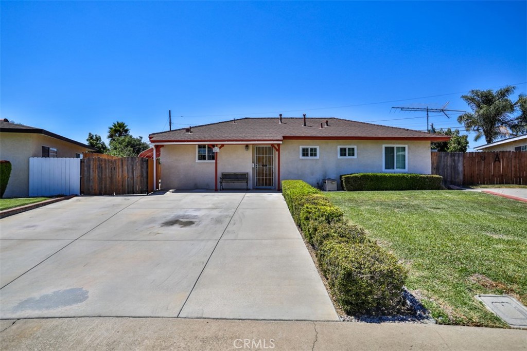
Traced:
<path id="1" fill-rule="evenodd" d="M 29 193 L 30 157 L 81 157 L 95 151 L 61 135 L 41 128 L 0 121 L 0 159 L 11 162 L 12 171 L 4 197 L 27 197 Z"/>

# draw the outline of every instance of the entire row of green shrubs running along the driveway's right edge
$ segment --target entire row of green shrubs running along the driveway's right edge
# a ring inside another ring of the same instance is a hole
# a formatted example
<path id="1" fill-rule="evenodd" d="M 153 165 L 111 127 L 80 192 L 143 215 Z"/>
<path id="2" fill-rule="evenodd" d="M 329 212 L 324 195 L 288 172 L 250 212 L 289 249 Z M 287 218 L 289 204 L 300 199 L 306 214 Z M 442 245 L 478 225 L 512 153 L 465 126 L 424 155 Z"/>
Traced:
<path id="1" fill-rule="evenodd" d="M 401 303 L 407 272 L 394 255 L 368 239 L 362 227 L 347 223 L 338 207 L 302 180 L 284 180 L 282 194 L 347 314 L 375 314 Z"/>

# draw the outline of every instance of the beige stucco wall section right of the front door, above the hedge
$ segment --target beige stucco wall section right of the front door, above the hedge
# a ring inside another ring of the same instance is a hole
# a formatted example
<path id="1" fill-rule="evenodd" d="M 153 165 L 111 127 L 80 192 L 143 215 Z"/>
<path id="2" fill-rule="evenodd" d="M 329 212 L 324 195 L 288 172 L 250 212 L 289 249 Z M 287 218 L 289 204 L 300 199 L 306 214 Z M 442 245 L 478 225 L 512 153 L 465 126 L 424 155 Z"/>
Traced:
<path id="1" fill-rule="evenodd" d="M 337 146 L 356 146 L 357 158 L 337 158 Z M 383 145 L 407 145 L 407 173 L 432 172 L 430 142 L 418 141 L 291 141 L 281 148 L 281 179 L 302 179 L 316 186 L 349 173 L 383 173 Z M 300 159 L 300 146 L 318 146 L 318 159 Z M 401 172 L 395 172 L 401 173 Z M 339 182 L 337 182 L 339 184 Z M 340 186 L 340 184 L 339 184 Z"/>

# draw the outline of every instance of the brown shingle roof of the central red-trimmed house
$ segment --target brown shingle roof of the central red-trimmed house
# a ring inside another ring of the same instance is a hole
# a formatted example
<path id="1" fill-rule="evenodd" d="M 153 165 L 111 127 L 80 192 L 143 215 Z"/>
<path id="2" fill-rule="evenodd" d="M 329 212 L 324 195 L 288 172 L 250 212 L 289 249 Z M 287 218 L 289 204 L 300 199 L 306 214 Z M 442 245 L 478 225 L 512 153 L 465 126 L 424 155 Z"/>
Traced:
<path id="1" fill-rule="evenodd" d="M 448 137 L 412 129 L 349 121 L 341 118 L 242 118 L 150 134 L 150 142 L 281 141 L 282 139 L 384 139 L 445 141 Z M 328 126 L 326 126 L 328 121 Z M 323 128 L 320 128 L 320 123 Z"/>

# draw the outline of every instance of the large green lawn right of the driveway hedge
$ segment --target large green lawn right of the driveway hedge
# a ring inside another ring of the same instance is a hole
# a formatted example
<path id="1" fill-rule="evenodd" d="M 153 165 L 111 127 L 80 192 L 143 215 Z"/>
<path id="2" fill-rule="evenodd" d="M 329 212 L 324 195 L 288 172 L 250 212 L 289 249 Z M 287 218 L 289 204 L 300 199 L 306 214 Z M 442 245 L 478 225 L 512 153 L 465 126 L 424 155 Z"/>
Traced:
<path id="1" fill-rule="evenodd" d="M 527 204 L 458 190 L 324 194 L 402 260 L 438 323 L 506 327 L 476 294 L 527 304 Z"/>

